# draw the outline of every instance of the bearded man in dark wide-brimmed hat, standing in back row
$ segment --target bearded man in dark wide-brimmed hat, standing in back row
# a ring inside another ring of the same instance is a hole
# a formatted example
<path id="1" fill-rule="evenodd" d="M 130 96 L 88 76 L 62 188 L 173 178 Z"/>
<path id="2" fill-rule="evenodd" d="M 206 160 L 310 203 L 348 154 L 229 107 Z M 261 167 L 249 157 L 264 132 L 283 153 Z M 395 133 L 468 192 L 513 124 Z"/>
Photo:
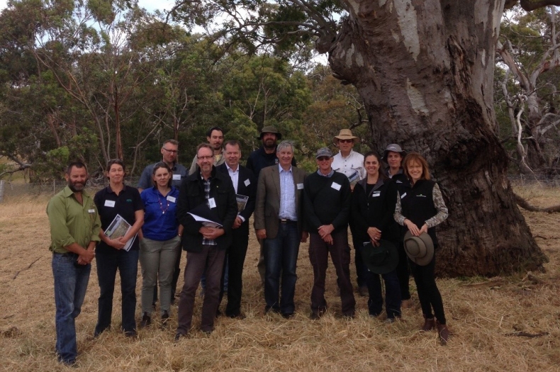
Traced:
<path id="1" fill-rule="evenodd" d="M 282 134 L 276 130 L 275 127 L 268 125 L 263 127 L 261 130 L 261 134 L 257 137 L 257 140 L 262 141 L 262 146 L 259 147 L 257 150 L 254 150 L 249 155 L 247 159 L 247 164 L 245 167 L 253 172 L 254 178 L 259 179 L 259 173 L 261 169 L 264 167 L 270 167 L 271 165 L 278 164 L 278 157 L 276 156 L 276 141 L 281 140 Z M 296 159 L 291 159 L 291 165 L 296 167 Z M 259 239 L 260 243 L 260 257 L 259 263 L 257 264 L 257 269 L 259 270 L 259 274 L 261 276 L 261 283 L 264 286 L 264 253 L 263 253 L 263 243 L 262 240 Z"/>

